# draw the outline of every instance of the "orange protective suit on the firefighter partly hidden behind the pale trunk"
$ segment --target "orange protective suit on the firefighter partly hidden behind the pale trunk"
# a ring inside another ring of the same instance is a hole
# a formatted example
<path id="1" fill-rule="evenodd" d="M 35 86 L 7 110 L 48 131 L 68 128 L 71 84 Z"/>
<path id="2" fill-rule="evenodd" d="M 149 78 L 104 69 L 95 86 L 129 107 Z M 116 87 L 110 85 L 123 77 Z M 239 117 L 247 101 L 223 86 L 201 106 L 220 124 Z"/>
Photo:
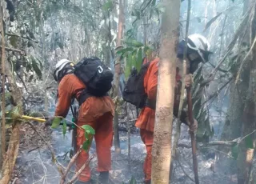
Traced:
<path id="1" fill-rule="evenodd" d="M 146 71 L 144 78 L 144 87 L 147 94 L 147 97 L 150 100 L 156 100 L 157 98 L 157 85 L 158 85 L 158 62 L 159 58 L 154 59 L 150 63 L 148 70 Z M 176 70 L 178 71 L 178 69 Z M 179 105 L 179 90 L 177 89 L 180 86 L 180 75 L 178 72 L 176 73 L 176 88 L 174 95 L 174 115 L 178 115 L 178 105 Z M 179 84 L 179 85 L 178 85 Z M 182 112 L 181 120 L 185 122 L 186 113 Z M 155 110 L 146 106 L 142 109 L 141 114 L 138 117 L 135 126 L 140 128 L 142 142 L 144 142 L 146 146 L 146 159 L 144 162 L 143 170 L 145 174 L 145 182 L 149 182 L 151 180 L 151 150 L 153 146 L 154 139 L 154 120 L 155 120 Z"/>

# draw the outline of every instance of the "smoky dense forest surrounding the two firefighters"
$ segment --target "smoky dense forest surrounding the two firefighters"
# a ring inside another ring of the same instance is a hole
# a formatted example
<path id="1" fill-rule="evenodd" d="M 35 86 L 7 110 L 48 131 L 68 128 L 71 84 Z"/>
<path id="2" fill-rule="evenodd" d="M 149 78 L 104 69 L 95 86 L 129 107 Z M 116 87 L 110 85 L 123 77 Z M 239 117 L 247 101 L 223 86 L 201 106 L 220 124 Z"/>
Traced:
<path id="1" fill-rule="evenodd" d="M 122 90 L 132 66 L 139 70 L 143 57 L 152 59 L 159 54 L 161 25 L 165 23 L 161 17 L 170 8 L 164 3 L 0 2 L 0 183 L 57 183 L 62 177 L 58 171 L 65 170 L 70 162 L 66 155 L 71 133 L 62 127 L 45 130 L 42 123 L 26 122 L 20 115 L 52 115 L 58 87 L 52 77 L 54 65 L 62 58 L 78 62 L 90 56 L 101 58 L 115 73 L 111 91 L 116 105 L 111 178 L 114 183 L 129 182 L 131 178 L 133 183 L 142 182 L 146 151 L 134 127 L 138 112 L 122 101 Z M 181 40 L 186 35 L 188 3 L 180 3 Z M 179 7 L 177 3 L 173 6 Z M 194 74 L 193 110 L 198 120 L 201 183 L 256 183 L 255 10 L 254 0 L 191 1 L 189 34 L 204 35 L 214 52 L 210 62 Z M 12 113 L 3 113 L 9 111 Z M 194 183 L 186 129 L 182 125 L 178 155 L 173 158 L 172 183 Z M 174 123 L 173 140 L 178 138 L 177 130 Z M 90 152 L 94 151 L 93 142 Z M 57 161 L 51 162 L 52 157 Z M 91 164 L 96 164 L 95 159 Z M 72 178 L 72 172 L 68 177 Z"/>

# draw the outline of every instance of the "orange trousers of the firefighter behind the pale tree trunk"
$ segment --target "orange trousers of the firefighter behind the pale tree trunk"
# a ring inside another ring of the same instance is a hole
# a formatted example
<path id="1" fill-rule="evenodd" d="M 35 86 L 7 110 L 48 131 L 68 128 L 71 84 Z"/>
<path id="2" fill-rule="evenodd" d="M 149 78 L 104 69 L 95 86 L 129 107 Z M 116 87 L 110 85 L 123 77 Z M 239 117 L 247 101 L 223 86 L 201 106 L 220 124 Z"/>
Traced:
<path id="1" fill-rule="evenodd" d="M 152 146 L 153 146 L 153 139 L 154 134 L 151 131 L 141 129 L 141 138 L 142 142 L 144 142 L 146 146 L 146 159 L 143 165 L 143 171 L 145 174 L 145 182 L 149 182 L 151 180 L 151 166 L 152 166 Z"/>

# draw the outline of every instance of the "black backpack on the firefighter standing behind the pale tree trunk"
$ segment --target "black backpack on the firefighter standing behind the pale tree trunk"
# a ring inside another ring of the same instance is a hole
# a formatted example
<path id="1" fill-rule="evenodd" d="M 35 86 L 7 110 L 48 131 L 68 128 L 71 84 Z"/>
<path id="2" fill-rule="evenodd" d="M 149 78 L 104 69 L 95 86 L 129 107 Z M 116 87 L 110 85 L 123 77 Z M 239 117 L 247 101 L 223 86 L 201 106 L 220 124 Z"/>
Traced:
<path id="1" fill-rule="evenodd" d="M 130 102 L 137 108 L 146 106 L 147 95 L 144 89 L 144 77 L 149 66 L 150 62 L 147 62 L 142 65 L 142 68 L 138 73 L 137 70 L 132 70 L 122 92 L 123 100 Z"/>

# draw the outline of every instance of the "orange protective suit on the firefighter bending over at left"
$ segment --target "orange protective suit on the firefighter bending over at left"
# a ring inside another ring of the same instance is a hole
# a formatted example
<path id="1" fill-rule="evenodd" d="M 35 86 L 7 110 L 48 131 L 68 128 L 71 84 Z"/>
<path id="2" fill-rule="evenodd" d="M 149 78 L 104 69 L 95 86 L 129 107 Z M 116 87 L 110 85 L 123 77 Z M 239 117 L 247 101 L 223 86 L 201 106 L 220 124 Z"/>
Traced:
<path id="1" fill-rule="evenodd" d="M 58 86 L 58 104 L 55 116 L 66 117 L 70 109 L 72 98 L 78 98 L 86 86 L 74 74 L 67 74 L 62 78 Z M 80 106 L 78 112 L 78 126 L 90 125 L 95 130 L 96 151 L 98 157 L 98 171 L 111 170 L 111 152 L 113 140 L 113 117 L 114 102 L 109 96 L 86 99 Z M 80 147 L 85 141 L 84 130 L 78 129 L 77 146 Z M 76 170 L 88 159 L 89 154 L 82 150 L 76 160 Z M 87 166 L 78 177 L 81 182 L 90 181 L 90 168 Z"/>

